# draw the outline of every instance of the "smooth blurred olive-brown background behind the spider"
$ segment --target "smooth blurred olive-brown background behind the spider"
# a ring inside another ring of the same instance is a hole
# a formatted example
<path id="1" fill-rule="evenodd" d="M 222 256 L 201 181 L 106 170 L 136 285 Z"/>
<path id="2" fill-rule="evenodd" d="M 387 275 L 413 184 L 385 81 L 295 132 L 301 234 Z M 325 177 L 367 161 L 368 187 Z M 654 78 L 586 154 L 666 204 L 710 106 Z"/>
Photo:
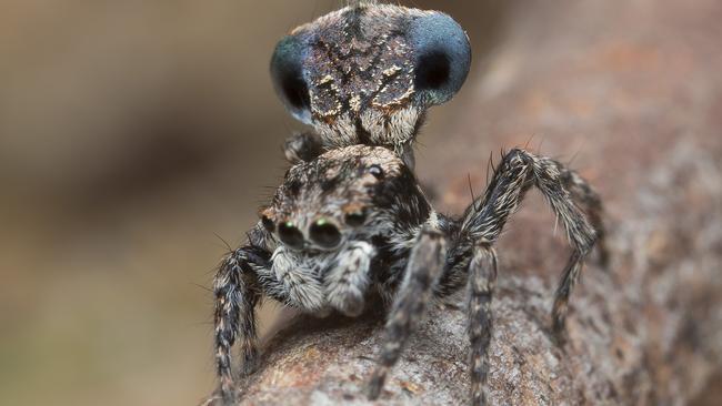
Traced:
<path id="1" fill-rule="evenodd" d="M 500 1 L 403 3 L 469 30 L 470 82 L 508 26 Z M 242 241 L 301 128 L 270 54 L 339 6 L 0 0 L 0 404 L 182 405 L 212 389 L 221 238 Z M 464 97 L 432 112 L 422 143 Z M 422 177 L 433 156 L 421 146 Z"/>

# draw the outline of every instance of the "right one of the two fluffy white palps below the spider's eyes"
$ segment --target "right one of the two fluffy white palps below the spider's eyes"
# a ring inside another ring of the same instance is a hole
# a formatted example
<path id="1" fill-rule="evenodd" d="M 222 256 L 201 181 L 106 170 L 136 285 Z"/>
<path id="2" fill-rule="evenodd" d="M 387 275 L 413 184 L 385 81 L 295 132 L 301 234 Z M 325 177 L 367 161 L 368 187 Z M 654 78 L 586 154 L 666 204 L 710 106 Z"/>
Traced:
<path id="1" fill-rule="evenodd" d="M 347 316 L 355 317 L 363 312 L 373 255 L 373 245 L 355 242 L 343 250 L 328 270 L 327 300 L 332 307 Z"/>

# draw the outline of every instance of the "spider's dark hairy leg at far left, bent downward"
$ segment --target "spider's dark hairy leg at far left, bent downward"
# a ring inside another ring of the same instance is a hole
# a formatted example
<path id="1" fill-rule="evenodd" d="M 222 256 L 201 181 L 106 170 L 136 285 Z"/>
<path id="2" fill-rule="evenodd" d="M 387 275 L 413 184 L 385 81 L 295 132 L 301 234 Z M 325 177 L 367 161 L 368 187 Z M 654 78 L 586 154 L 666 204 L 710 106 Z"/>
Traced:
<path id="1" fill-rule="evenodd" d="M 255 306 L 261 292 L 254 267 L 267 266 L 268 256 L 269 253 L 257 247 L 238 248 L 223 260 L 213 280 L 215 365 L 224 404 L 234 400 L 231 348 L 237 341 L 241 347 L 242 374 L 247 375 L 255 367 Z"/>

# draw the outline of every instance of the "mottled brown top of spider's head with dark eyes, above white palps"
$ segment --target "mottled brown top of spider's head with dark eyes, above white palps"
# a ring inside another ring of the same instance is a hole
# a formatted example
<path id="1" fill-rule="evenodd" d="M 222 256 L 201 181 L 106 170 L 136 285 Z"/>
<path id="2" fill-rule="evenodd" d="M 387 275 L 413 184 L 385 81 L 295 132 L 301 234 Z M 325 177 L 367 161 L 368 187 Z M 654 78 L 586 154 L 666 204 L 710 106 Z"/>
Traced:
<path id="1" fill-rule="evenodd" d="M 350 240 L 390 230 L 397 197 L 420 194 L 411 171 L 391 151 L 353 145 L 292 166 L 263 227 L 293 251 L 339 250 Z"/>

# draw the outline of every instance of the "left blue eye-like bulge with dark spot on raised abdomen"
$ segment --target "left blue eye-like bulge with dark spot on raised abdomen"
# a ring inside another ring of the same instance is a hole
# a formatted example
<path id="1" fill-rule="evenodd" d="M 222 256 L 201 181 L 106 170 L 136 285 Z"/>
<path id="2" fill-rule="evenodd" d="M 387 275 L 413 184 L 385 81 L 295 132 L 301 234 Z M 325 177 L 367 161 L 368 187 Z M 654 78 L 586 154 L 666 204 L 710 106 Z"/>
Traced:
<path id="1" fill-rule="evenodd" d="M 271 57 L 271 79 L 285 108 L 297 119 L 311 120 L 311 99 L 303 75 L 305 45 L 293 35 L 283 38 Z"/>

